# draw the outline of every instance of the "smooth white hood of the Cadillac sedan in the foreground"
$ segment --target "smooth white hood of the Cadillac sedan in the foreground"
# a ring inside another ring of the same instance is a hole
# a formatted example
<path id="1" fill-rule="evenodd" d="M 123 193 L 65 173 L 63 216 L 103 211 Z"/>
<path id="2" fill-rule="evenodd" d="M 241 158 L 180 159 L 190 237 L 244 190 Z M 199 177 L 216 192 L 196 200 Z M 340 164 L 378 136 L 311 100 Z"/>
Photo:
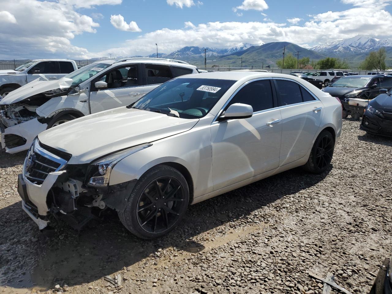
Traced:
<path id="1" fill-rule="evenodd" d="M 69 164 L 83 164 L 128 147 L 188 131 L 198 121 L 118 107 L 46 130 L 38 139 L 72 154 Z"/>

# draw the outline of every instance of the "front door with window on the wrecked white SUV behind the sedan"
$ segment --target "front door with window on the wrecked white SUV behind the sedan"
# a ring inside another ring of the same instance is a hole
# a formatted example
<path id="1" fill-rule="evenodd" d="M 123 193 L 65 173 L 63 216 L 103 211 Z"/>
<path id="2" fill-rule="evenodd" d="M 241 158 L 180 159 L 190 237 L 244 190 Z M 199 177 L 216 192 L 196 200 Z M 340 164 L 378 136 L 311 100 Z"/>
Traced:
<path id="1" fill-rule="evenodd" d="M 98 80 L 107 83 L 107 89 L 96 89 Z M 98 76 L 91 83 L 91 113 L 129 105 L 143 96 L 144 87 L 140 75 L 140 65 L 123 65 Z"/>

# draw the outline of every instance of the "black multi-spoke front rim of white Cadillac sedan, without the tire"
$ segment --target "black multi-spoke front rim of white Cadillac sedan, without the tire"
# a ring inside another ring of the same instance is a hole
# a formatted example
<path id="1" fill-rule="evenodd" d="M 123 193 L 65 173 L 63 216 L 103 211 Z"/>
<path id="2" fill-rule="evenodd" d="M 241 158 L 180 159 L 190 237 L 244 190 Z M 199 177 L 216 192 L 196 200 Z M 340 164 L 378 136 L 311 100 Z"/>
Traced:
<path id="1" fill-rule="evenodd" d="M 148 233 L 169 230 L 184 208 L 184 187 L 174 176 L 162 176 L 145 187 L 137 206 L 140 227 Z"/>

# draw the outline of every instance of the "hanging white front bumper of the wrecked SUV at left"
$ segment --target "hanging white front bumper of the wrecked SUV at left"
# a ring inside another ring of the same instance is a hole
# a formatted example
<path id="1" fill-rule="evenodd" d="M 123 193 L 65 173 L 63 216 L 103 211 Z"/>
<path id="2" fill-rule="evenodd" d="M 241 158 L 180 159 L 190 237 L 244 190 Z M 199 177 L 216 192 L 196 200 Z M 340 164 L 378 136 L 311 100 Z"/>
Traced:
<path id="1" fill-rule="evenodd" d="M 38 122 L 37 118 L 10 127 L 6 127 L 6 119 L 0 115 L 1 145 L 10 154 L 29 149 L 34 138 L 47 129 L 47 124 Z"/>

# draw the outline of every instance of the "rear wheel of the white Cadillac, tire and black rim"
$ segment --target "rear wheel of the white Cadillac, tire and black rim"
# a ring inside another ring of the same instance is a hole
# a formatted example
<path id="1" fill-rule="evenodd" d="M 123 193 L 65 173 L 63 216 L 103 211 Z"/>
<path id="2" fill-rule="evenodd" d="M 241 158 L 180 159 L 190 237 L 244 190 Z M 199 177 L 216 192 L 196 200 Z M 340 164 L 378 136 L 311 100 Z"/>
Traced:
<path id="1" fill-rule="evenodd" d="M 314 174 L 321 174 L 332 161 L 335 142 L 332 134 L 326 130 L 322 131 L 313 144 L 308 162 L 303 166 L 305 170 Z"/>

